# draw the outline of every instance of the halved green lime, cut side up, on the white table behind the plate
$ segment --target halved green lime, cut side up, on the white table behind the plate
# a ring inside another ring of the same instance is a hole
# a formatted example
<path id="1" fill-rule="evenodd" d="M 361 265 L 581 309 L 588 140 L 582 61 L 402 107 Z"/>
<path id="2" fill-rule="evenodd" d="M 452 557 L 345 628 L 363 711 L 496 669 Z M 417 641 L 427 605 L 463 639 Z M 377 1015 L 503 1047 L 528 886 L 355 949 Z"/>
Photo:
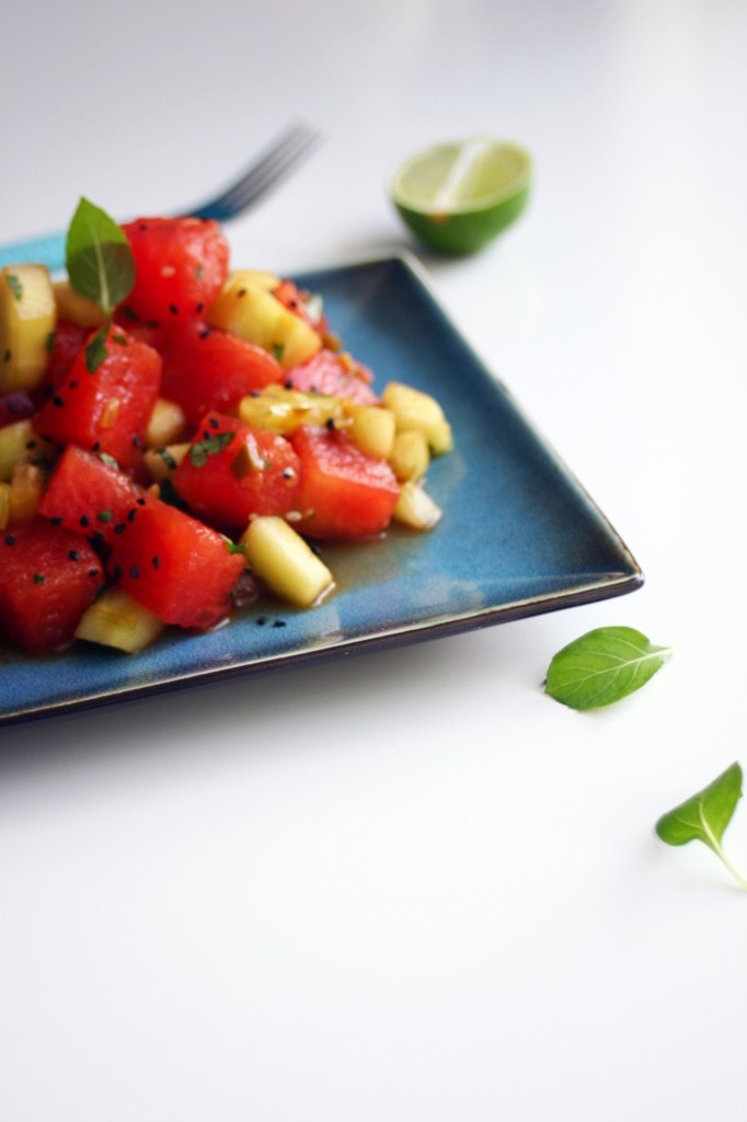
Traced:
<path id="1" fill-rule="evenodd" d="M 531 182 L 532 157 L 525 148 L 477 137 L 411 157 L 395 174 L 389 194 L 426 246 L 469 254 L 516 221 Z"/>

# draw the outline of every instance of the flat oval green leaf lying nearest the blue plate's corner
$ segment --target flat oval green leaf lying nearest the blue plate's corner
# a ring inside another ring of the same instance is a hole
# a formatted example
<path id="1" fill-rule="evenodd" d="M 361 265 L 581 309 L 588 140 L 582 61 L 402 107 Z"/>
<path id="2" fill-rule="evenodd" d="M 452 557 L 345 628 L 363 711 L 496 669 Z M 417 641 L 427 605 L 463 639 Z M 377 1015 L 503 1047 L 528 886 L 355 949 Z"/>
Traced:
<path id="1" fill-rule="evenodd" d="M 671 653 L 633 627 L 597 627 L 557 652 L 545 692 L 571 709 L 611 705 L 640 689 Z"/>

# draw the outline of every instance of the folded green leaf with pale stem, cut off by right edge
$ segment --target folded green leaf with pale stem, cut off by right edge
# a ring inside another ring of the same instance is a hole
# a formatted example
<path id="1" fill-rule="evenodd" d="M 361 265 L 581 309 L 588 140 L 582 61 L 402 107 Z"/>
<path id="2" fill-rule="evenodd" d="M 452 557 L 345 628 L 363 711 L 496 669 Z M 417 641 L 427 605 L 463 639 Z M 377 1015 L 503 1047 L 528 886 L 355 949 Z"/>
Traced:
<path id="1" fill-rule="evenodd" d="M 656 822 L 656 834 L 666 845 L 702 842 L 720 857 L 743 889 L 747 889 L 747 880 L 728 861 L 721 846 L 723 831 L 741 798 L 741 779 L 739 764 L 731 764 L 698 794 L 662 815 Z"/>

